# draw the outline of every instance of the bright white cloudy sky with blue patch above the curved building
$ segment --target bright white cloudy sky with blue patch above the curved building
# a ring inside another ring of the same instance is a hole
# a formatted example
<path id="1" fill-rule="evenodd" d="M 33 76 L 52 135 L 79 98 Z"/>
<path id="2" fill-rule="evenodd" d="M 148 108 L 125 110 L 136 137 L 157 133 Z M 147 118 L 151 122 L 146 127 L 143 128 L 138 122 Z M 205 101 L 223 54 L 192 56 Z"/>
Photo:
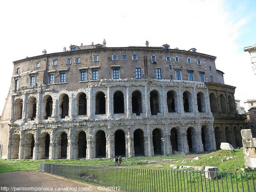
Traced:
<path id="1" fill-rule="evenodd" d="M 5 0 L 0 7 L 0 114 L 13 61 L 104 38 L 107 47 L 144 46 L 146 40 L 149 46 L 195 47 L 217 57 L 241 105 L 256 99 L 256 75 L 243 51 L 256 44 L 255 0 Z"/>

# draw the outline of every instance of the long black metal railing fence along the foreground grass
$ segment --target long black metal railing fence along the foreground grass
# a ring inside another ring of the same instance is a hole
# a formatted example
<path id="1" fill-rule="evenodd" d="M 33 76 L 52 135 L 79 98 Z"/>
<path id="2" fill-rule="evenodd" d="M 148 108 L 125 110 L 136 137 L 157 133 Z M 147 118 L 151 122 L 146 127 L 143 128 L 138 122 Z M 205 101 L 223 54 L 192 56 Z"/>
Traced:
<path id="1" fill-rule="evenodd" d="M 256 192 L 256 173 L 44 164 L 44 172 L 130 192 Z M 216 172 L 215 172 L 216 173 Z"/>

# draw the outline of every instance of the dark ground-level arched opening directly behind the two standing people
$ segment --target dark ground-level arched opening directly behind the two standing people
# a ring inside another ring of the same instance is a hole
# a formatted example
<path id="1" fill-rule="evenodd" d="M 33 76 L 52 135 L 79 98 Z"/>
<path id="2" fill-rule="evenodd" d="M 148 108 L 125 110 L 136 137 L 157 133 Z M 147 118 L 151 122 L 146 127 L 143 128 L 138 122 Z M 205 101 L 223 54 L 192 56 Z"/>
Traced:
<path id="1" fill-rule="evenodd" d="M 125 132 L 117 130 L 115 132 L 115 156 L 125 155 Z"/>

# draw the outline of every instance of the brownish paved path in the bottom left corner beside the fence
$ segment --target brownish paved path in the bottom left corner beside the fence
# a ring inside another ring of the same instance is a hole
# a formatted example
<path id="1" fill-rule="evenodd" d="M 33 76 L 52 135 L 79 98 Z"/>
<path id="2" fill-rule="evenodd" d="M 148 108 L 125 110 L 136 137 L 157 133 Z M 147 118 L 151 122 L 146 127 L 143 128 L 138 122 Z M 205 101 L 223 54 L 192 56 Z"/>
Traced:
<path id="1" fill-rule="evenodd" d="M 35 192 L 36 187 L 37 191 L 49 191 L 49 192 L 98 192 L 104 190 L 100 189 L 100 186 L 96 186 L 89 183 L 79 182 L 76 180 L 67 179 L 64 177 L 58 177 L 55 175 L 50 175 L 47 173 L 41 173 L 38 171 L 17 171 L 17 172 L 8 172 L 0 174 L 0 192 L 7 191 L 26 191 L 26 192 Z M 24 189 L 19 190 L 15 187 L 35 187 L 35 189 Z M 39 190 L 41 187 L 41 190 Z M 48 189 L 42 190 L 42 187 L 48 187 Z M 60 189 L 59 187 L 66 187 Z M 68 189 L 68 187 L 70 187 Z M 81 188 L 79 190 L 79 187 Z"/>

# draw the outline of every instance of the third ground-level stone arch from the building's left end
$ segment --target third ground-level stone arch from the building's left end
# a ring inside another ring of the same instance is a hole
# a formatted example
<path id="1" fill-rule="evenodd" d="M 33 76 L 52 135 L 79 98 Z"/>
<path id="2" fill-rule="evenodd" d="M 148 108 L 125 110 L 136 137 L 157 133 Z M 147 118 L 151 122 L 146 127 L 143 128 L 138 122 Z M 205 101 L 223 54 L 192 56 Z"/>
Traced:
<path id="1" fill-rule="evenodd" d="M 39 159 L 49 159 L 50 135 L 47 132 L 41 134 L 39 145 Z"/>

